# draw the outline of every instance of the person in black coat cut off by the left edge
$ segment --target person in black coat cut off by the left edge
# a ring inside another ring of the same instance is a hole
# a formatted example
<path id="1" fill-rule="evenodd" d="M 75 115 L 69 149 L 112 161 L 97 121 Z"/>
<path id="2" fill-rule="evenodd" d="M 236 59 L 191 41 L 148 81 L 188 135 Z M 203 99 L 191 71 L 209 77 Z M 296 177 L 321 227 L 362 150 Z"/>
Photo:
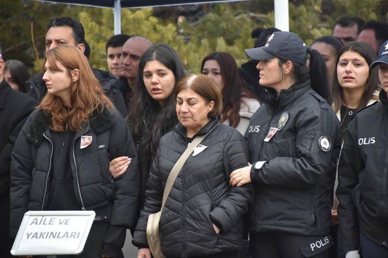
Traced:
<path id="1" fill-rule="evenodd" d="M 10 164 L 16 138 L 37 102 L 11 89 L 3 76 L 4 60 L 0 52 L 0 256 L 11 257 Z"/>

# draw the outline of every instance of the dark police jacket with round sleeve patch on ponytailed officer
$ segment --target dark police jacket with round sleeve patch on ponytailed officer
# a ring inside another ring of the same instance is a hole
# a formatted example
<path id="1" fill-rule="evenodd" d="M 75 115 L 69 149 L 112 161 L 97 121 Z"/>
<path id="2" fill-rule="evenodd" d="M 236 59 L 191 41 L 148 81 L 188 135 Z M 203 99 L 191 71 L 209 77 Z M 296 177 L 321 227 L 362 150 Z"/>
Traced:
<path id="1" fill-rule="evenodd" d="M 278 131 L 264 141 L 270 128 Z M 245 134 L 256 189 L 252 230 L 329 233 L 338 128 L 336 115 L 309 81 L 282 90 L 274 106 L 256 111 Z"/>

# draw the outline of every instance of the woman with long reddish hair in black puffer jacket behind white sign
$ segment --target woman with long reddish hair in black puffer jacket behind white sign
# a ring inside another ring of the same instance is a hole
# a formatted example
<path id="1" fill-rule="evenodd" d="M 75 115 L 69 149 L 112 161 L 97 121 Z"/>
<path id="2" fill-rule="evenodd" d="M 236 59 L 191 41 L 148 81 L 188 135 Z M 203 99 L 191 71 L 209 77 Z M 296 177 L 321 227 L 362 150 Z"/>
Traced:
<path id="1" fill-rule="evenodd" d="M 125 229 L 136 222 L 139 195 L 131 132 L 76 47 L 47 51 L 43 80 L 47 95 L 12 153 L 11 235 L 28 210 L 94 210 L 80 256 L 119 257 Z M 109 160 L 118 156 L 131 156 L 132 163 L 113 179 Z"/>

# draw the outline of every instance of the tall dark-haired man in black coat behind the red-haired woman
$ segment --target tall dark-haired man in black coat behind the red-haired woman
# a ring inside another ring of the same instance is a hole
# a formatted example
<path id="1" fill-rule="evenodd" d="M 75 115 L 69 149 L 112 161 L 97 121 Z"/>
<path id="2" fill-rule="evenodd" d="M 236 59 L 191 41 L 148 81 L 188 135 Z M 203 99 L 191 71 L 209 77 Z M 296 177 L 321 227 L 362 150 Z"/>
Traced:
<path id="1" fill-rule="evenodd" d="M 85 41 L 84 27 L 79 21 L 69 17 L 52 18 L 46 30 L 46 51 L 61 45 L 78 47 L 83 53 L 90 54 L 90 47 Z M 99 80 L 102 90 L 113 102 L 116 109 L 123 117 L 127 115 L 124 99 L 118 90 L 116 77 L 110 72 L 92 68 L 94 75 Z M 46 95 L 46 83 L 42 79 L 43 73 L 32 76 L 27 83 L 30 85 L 28 95 L 41 101 Z"/>

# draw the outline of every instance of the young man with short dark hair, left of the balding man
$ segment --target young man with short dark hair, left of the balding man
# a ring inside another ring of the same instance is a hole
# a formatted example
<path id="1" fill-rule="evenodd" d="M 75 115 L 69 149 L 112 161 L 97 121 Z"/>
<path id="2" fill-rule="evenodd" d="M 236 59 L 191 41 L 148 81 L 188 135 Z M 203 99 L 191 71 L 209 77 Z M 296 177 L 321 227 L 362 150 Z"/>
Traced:
<path id="1" fill-rule="evenodd" d="M 110 37 L 105 44 L 106 62 L 108 63 L 109 71 L 117 78 L 121 76 L 120 72 L 120 57 L 122 51 L 122 45 L 125 41 L 130 39 L 130 35 L 117 34 Z"/>

